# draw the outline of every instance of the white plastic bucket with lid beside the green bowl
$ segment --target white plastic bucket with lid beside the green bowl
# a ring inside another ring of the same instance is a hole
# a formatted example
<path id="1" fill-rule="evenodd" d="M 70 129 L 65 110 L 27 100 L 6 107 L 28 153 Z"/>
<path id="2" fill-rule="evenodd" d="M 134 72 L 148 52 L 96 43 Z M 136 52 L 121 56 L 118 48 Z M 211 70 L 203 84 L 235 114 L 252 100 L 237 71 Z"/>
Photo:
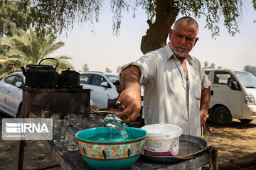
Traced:
<path id="1" fill-rule="evenodd" d="M 144 154 L 158 157 L 176 156 L 182 129 L 178 125 L 152 124 L 142 129 L 148 132 L 144 143 Z"/>

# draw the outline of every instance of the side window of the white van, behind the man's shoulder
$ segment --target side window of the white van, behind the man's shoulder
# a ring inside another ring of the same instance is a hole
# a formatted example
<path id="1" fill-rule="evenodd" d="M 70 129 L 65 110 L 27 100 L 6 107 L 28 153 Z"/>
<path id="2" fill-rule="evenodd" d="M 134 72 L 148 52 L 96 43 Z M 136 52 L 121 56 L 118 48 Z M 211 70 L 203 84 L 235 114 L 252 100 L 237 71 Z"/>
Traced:
<path id="1" fill-rule="evenodd" d="M 214 73 L 213 84 L 226 84 L 231 87 L 233 81 L 235 81 L 234 77 L 228 72 Z"/>

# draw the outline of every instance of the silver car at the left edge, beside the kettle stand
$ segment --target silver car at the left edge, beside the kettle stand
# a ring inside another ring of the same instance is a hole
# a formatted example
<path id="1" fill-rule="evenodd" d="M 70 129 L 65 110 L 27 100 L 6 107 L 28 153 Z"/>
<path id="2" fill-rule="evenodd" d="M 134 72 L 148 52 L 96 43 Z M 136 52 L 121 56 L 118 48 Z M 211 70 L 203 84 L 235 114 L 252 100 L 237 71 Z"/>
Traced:
<path id="1" fill-rule="evenodd" d="M 14 72 L 0 81 L 0 111 L 14 118 L 21 116 L 22 86 L 25 77 Z"/>

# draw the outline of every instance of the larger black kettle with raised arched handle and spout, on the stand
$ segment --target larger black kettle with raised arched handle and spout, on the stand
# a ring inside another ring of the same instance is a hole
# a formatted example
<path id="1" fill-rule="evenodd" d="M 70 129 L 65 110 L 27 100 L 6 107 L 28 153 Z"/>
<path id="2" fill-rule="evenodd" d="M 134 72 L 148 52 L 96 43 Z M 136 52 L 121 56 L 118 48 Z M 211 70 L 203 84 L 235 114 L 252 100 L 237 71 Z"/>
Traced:
<path id="1" fill-rule="evenodd" d="M 55 58 L 44 58 L 43 60 L 56 60 Z M 58 60 L 56 66 L 53 68 L 51 65 L 42 65 L 41 60 L 38 64 L 28 64 L 28 68 L 25 71 L 24 67 L 21 67 L 23 75 L 26 77 L 25 86 L 40 87 L 40 88 L 53 88 L 58 82 Z"/>

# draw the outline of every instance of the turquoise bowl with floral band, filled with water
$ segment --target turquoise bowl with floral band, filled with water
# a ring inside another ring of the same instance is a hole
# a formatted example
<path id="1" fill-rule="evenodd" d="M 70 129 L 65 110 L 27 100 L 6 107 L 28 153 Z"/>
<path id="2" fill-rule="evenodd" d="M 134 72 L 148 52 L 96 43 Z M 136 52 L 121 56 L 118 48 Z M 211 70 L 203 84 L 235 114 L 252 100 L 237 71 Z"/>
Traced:
<path id="1" fill-rule="evenodd" d="M 80 130 L 75 136 L 82 159 L 94 169 L 127 169 L 142 154 L 147 132 L 130 127 L 125 131 L 127 140 L 119 130 L 108 127 Z"/>

